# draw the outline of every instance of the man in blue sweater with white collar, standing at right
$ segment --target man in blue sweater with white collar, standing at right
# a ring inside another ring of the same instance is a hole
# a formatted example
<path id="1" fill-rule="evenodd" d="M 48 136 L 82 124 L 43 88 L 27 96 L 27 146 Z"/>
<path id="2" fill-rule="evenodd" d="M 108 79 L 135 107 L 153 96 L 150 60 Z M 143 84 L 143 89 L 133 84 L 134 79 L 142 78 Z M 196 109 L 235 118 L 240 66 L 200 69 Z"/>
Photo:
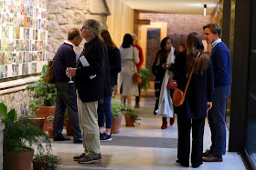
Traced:
<path id="1" fill-rule="evenodd" d="M 208 24 L 203 27 L 205 39 L 211 44 L 210 59 L 214 74 L 214 99 L 208 112 L 208 124 L 211 131 L 211 146 L 203 153 L 205 162 L 222 162 L 226 153 L 226 103 L 230 93 L 230 54 L 228 47 L 221 42 L 221 27 Z"/>

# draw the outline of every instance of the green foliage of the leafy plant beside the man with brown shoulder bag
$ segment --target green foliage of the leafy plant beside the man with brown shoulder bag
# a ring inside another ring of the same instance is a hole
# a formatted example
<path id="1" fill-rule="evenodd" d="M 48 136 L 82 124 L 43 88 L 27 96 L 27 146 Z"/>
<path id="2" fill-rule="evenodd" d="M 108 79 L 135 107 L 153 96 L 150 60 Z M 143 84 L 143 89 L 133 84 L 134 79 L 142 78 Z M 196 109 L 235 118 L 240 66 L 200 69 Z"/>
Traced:
<path id="1" fill-rule="evenodd" d="M 35 91 L 38 102 L 42 102 L 44 106 L 51 106 L 56 104 L 57 89 L 54 84 L 48 84 L 44 82 L 48 65 L 44 65 L 42 68 L 41 76 L 38 81 L 27 85 L 27 89 Z"/>

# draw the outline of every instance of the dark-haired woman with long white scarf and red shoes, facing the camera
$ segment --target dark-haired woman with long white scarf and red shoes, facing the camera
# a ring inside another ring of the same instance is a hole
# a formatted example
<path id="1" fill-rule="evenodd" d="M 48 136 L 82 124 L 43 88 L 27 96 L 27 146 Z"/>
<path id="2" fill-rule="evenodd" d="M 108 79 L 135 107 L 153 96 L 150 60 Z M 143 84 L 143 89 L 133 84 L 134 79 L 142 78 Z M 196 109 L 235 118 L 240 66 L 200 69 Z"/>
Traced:
<path id="1" fill-rule="evenodd" d="M 168 82 L 166 80 L 169 77 L 173 76 L 174 65 L 172 64 L 174 64 L 175 62 L 176 54 L 177 52 L 175 48 L 172 46 L 172 39 L 170 37 L 165 37 L 161 41 L 161 49 L 156 53 L 155 62 L 152 65 L 152 72 L 155 75 L 155 97 L 156 97 L 154 115 L 163 116 L 162 118 L 163 124 L 161 126 L 161 129 L 167 128 L 166 117 L 170 117 L 170 125 L 173 125 L 175 121 L 174 107 L 171 101 L 172 99 L 170 98 L 173 95 L 174 91 L 167 89 L 166 83 Z M 164 81 L 164 85 L 163 85 L 163 81 Z M 163 108 L 162 107 L 163 105 L 166 105 L 166 108 L 169 108 L 170 110 L 161 109 Z"/>

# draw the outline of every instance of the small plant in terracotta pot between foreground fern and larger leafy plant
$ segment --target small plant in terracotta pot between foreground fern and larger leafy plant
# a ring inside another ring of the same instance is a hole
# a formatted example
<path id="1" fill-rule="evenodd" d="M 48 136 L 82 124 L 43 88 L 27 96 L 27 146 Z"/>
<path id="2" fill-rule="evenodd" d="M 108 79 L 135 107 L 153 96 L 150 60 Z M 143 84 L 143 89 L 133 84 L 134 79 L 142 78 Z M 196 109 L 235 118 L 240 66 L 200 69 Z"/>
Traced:
<path id="1" fill-rule="evenodd" d="M 29 108 L 32 111 L 29 119 L 31 119 L 40 129 L 43 129 L 45 117 L 37 117 L 37 112 L 40 110 L 38 108 L 38 100 L 35 99 L 33 103 L 29 105 Z"/>

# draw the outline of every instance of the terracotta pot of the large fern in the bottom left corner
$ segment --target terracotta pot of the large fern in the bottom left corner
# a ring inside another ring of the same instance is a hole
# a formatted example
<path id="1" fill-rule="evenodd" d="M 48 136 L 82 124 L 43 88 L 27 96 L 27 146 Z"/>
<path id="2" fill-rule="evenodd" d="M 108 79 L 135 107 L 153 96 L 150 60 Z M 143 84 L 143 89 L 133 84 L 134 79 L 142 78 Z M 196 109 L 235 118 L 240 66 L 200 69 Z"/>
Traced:
<path id="1" fill-rule="evenodd" d="M 34 150 L 29 148 L 17 148 L 16 152 L 4 156 L 5 170 L 30 170 Z"/>

